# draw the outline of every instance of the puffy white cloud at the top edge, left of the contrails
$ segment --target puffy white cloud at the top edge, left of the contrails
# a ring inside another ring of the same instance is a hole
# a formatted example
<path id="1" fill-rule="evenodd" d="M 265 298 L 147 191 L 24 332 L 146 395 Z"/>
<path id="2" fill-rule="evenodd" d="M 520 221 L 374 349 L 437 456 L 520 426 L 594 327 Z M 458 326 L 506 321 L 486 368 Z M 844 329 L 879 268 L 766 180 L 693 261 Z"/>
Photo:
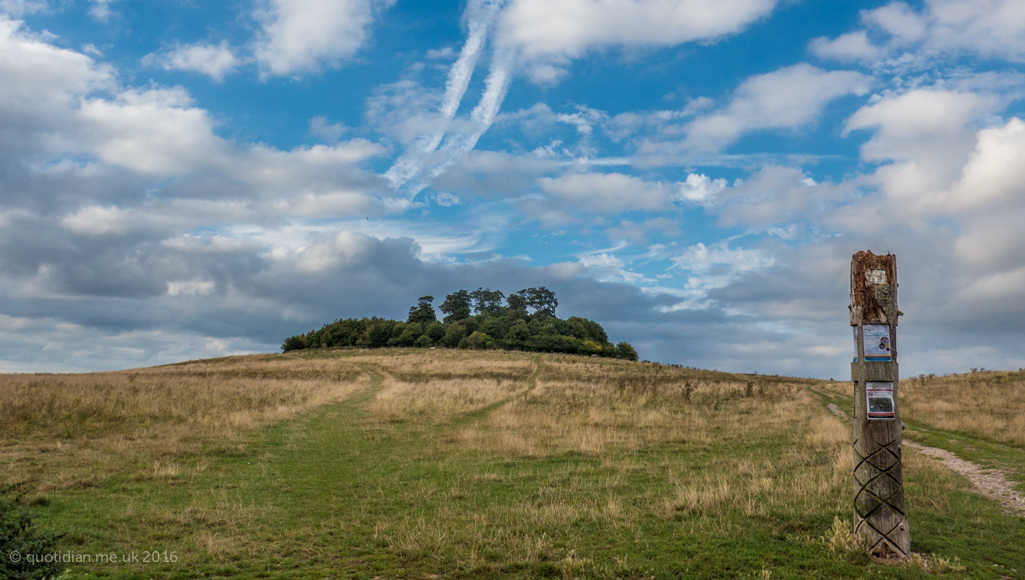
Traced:
<path id="1" fill-rule="evenodd" d="M 369 36 L 375 12 L 395 0 L 262 0 L 253 56 L 277 76 L 316 72 L 351 58 Z"/>

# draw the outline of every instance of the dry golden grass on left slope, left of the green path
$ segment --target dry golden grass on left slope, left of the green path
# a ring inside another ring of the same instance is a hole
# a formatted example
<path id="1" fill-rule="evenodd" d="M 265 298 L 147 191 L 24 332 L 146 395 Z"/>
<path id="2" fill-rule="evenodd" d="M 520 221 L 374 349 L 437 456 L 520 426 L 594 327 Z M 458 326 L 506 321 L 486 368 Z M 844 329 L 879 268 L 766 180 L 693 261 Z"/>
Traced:
<path id="1" fill-rule="evenodd" d="M 167 480 L 175 457 L 244 445 L 243 433 L 365 388 L 344 360 L 239 357 L 77 375 L 0 375 L 2 484 L 39 492 L 113 472 Z"/>

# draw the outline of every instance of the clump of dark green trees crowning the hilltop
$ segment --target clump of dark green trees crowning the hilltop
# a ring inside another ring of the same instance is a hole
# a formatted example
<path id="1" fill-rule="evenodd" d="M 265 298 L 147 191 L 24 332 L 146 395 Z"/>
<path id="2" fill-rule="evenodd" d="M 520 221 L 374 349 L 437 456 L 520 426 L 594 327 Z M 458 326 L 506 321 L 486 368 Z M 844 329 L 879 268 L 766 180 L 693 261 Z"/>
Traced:
<path id="1" fill-rule="evenodd" d="M 457 290 L 441 303 L 438 320 L 434 296 L 420 296 L 406 322 L 380 319 L 337 320 L 320 330 L 289 336 L 282 350 L 353 346 L 382 348 L 502 348 L 534 353 L 568 353 L 638 360 L 627 342 L 613 344 L 602 325 L 578 317 L 556 317 L 559 300 L 541 286 L 506 296 L 499 290 Z"/>

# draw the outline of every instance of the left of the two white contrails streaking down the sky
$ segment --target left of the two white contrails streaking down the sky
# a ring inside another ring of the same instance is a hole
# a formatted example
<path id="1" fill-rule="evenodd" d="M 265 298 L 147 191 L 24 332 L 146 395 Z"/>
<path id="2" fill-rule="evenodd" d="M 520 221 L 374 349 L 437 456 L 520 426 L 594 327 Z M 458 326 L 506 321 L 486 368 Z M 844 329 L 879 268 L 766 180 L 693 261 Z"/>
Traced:
<path id="1" fill-rule="evenodd" d="M 505 2 L 506 0 L 470 0 L 466 7 L 468 35 L 462 50 L 459 51 L 459 58 L 449 70 L 448 80 L 445 83 L 445 97 L 442 99 L 440 113 L 445 122 L 455 117 L 455 112 L 459 109 L 462 96 L 466 93 L 466 87 L 469 86 L 469 80 L 474 76 L 477 60 L 487 42 L 488 32 L 494 26 Z M 392 187 L 399 189 L 416 177 L 423 168 L 422 158 L 434 153 L 444 136 L 445 127 L 442 126 L 434 134 L 417 137 L 412 147 L 384 173 L 384 176 L 392 181 Z M 411 197 L 422 189 L 416 190 Z"/>

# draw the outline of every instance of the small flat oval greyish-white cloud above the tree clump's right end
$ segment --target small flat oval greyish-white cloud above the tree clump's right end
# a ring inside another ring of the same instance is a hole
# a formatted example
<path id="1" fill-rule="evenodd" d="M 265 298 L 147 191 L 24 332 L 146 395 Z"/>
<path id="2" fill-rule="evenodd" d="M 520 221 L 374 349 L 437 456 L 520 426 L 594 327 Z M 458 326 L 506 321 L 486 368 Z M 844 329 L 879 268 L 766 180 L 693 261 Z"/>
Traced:
<path id="1" fill-rule="evenodd" d="M 667 207 L 661 183 L 622 173 L 570 173 L 538 179 L 541 191 L 554 201 L 580 211 L 615 213 Z"/>

